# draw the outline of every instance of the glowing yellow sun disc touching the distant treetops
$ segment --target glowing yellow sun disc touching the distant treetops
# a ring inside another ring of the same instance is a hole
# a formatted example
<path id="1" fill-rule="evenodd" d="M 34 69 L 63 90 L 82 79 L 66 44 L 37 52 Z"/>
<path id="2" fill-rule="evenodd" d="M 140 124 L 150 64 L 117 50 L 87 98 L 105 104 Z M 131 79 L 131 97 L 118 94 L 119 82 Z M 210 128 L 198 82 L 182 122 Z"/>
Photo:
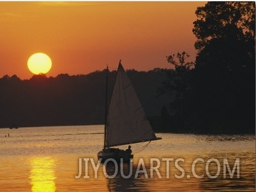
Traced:
<path id="1" fill-rule="evenodd" d="M 27 60 L 27 67 L 34 74 L 46 74 L 52 67 L 52 60 L 45 53 L 34 53 Z"/>

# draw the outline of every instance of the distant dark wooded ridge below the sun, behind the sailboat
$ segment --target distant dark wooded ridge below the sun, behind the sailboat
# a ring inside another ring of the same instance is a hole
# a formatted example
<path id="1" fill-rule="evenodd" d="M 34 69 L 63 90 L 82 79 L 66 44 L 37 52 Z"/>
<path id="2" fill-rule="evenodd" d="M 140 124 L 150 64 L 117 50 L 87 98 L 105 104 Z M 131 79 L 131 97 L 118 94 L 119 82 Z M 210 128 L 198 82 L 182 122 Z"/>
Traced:
<path id="1" fill-rule="evenodd" d="M 169 97 L 156 98 L 165 75 L 162 70 L 128 70 L 147 116 L 160 116 Z M 16 75 L 0 78 L 0 127 L 103 124 L 106 70 L 87 75 L 44 74 L 21 80 Z M 116 71 L 109 72 L 109 95 Z"/>

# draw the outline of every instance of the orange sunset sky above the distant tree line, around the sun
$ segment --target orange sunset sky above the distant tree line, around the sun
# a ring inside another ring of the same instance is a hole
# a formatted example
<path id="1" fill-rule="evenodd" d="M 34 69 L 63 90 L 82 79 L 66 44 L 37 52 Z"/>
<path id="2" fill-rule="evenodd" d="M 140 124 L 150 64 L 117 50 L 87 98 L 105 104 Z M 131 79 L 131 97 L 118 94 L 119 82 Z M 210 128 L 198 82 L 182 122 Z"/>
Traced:
<path id="1" fill-rule="evenodd" d="M 170 68 L 166 56 L 195 57 L 192 33 L 205 2 L 0 2 L 0 78 L 29 79 L 27 59 L 52 58 L 47 76 L 87 74 L 117 67 Z"/>

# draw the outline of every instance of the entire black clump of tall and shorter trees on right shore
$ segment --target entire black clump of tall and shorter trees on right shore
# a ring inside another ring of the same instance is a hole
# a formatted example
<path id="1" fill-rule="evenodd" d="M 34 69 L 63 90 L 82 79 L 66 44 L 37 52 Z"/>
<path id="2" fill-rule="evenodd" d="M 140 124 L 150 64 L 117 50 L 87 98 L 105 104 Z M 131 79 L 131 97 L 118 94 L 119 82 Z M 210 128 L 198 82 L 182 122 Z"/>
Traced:
<path id="1" fill-rule="evenodd" d="M 195 14 L 195 64 L 186 52 L 168 56 L 175 70 L 160 88 L 174 97 L 170 127 L 255 132 L 255 3 L 209 2 Z"/>

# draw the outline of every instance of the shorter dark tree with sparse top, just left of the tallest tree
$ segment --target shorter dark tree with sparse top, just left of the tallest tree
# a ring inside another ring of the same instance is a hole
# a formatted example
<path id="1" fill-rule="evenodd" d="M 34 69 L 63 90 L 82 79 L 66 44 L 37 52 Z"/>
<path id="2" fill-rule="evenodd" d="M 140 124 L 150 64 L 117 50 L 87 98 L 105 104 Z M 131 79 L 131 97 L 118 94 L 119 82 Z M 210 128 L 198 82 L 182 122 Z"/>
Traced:
<path id="1" fill-rule="evenodd" d="M 190 106 L 188 102 L 191 95 L 191 80 L 193 74 L 194 62 L 187 62 L 190 57 L 188 53 L 183 51 L 182 53 L 172 54 L 167 56 L 167 62 L 174 65 L 174 70 L 165 70 L 167 79 L 163 81 L 162 86 L 158 88 L 158 93 L 168 93 L 170 95 L 170 116 L 169 120 L 165 120 L 162 114 L 163 127 L 170 127 L 173 132 L 177 130 L 181 131 L 184 128 L 186 121 L 187 109 Z M 165 111 L 162 111 L 162 113 Z M 171 123 L 172 125 L 167 125 Z"/>

